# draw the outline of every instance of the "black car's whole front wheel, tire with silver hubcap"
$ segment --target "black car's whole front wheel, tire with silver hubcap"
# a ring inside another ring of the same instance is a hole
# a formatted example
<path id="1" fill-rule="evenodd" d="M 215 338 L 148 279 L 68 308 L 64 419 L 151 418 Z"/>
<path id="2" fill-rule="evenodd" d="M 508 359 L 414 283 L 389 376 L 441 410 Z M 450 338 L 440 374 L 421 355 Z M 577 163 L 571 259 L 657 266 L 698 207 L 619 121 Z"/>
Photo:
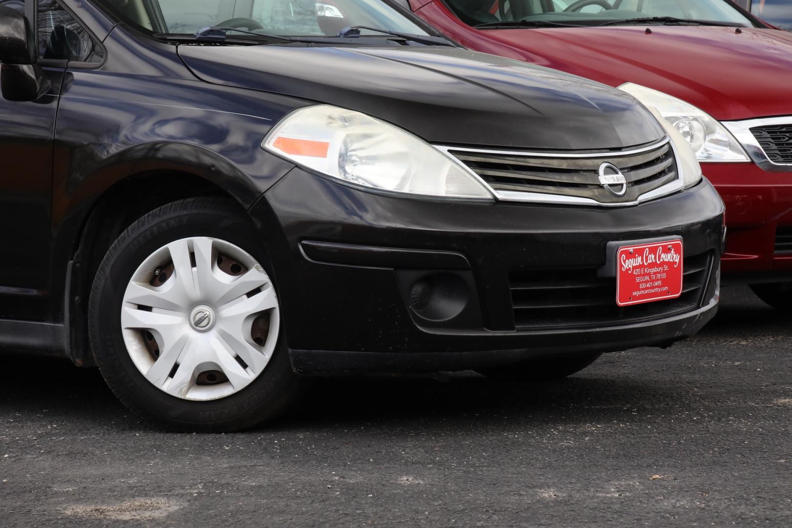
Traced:
<path id="1" fill-rule="evenodd" d="M 183 199 L 139 218 L 90 293 L 89 340 L 105 382 L 132 411 L 177 431 L 238 431 L 279 416 L 304 382 L 270 277 L 257 231 L 228 200 Z"/>

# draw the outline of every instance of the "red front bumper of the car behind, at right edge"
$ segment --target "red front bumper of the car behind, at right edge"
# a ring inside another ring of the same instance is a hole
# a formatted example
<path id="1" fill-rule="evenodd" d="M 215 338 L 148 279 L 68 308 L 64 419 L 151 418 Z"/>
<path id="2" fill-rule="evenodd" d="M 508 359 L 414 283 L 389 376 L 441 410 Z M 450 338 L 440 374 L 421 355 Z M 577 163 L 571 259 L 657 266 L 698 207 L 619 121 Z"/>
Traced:
<path id="1" fill-rule="evenodd" d="M 753 163 L 703 163 L 702 169 L 726 204 L 724 282 L 792 281 L 792 245 L 786 253 L 776 249 L 784 228 L 792 235 L 792 172 L 770 173 Z"/>

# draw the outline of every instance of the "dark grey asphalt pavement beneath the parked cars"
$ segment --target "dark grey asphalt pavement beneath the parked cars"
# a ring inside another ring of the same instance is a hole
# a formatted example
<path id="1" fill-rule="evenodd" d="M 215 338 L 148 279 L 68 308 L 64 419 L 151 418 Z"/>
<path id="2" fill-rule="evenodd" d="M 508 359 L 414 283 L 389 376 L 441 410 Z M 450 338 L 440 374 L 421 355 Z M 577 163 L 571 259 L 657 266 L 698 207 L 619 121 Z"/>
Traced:
<path id="1" fill-rule="evenodd" d="M 564 382 L 320 382 L 286 419 L 140 423 L 97 370 L 3 356 L 0 526 L 792 526 L 792 326 L 743 287 Z"/>

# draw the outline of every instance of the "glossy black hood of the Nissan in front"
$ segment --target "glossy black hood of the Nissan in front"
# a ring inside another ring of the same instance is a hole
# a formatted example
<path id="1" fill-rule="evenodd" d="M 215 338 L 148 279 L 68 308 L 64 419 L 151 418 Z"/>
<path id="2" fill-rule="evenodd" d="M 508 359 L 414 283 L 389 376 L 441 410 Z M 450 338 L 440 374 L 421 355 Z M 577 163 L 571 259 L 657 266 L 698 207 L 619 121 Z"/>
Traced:
<path id="1" fill-rule="evenodd" d="M 633 97 L 573 75 L 451 47 L 178 47 L 207 82 L 351 108 L 428 142 L 603 149 L 661 139 Z"/>

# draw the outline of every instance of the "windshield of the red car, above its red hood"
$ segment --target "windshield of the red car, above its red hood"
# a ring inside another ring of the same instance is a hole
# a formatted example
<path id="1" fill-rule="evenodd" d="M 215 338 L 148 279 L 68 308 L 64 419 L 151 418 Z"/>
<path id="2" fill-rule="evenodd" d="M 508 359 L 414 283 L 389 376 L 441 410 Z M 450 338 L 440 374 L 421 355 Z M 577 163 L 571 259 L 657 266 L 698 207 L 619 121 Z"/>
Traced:
<path id="1" fill-rule="evenodd" d="M 729 0 L 444 0 L 468 25 L 489 28 L 642 23 L 752 26 Z M 669 18 L 670 17 L 670 18 Z M 674 20 L 671 20 L 674 19 Z M 497 25 L 497 22 L 503 25 Z M 487 27 L 485 26 L 485 27 Z"/>

